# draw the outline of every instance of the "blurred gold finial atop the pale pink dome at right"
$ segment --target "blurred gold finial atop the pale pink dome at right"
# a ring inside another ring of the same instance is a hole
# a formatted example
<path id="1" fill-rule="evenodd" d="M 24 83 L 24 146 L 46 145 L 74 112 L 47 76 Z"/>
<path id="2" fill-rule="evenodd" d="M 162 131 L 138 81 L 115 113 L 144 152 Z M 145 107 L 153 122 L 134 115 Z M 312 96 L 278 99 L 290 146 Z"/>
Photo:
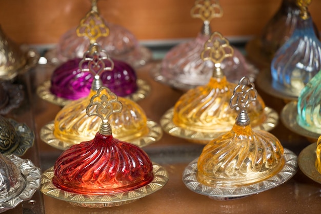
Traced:
<path id="1" fill-rule="evenodd" d="M 218 0 L 196 0 L 194 7 L 191 9 L 191 16 L 203 20 L 202 33 L 210 35 L 210 21 L 213 18 L 222 17 L 223 9 L 220 7 Z"/>

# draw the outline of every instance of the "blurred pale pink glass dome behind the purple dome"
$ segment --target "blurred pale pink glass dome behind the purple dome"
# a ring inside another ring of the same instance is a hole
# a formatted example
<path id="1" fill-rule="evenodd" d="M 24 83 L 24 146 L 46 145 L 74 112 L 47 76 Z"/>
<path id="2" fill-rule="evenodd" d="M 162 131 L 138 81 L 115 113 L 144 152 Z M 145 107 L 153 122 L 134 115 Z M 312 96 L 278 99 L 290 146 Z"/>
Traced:
<path id="1" fill-rule="evenodd" d="M 145 65 L 152 59 L 151 51 L 138 44 L 137 38 L 126 28 L 113 24 L 104 20 L 98 13 L 97 0 L 93 0 L 92 8 L 81 21 L 81 26 L 85 23 L 93 30 L 90 33 L 96 33 L 95 30 L 100 30 L 103 25 L 108 28 L 103 36 L 97 36 L 95 42 L 100 44 L 113 59 L 127 62 L 131 66 L 137 68 Z M 86 18 L 94 15 L 91 22 L 84 22 Z M 72 28 L 63 34 L 57 44 L 56 49 L 49 51 L 46 55 L 52 63 L 59 64 L 70 59 L 82 57 L 84 52 L 88 50 L 90 38 L 86 35 L 87 32 L 81 30 L 79 35 L 79 27 Z"/>

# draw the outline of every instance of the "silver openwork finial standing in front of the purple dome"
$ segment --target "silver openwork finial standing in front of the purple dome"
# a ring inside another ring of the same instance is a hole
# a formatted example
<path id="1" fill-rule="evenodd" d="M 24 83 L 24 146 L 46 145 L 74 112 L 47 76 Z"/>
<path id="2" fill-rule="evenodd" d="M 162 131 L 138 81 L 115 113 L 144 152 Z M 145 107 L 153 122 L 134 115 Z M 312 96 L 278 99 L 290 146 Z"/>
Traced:
<path id="1" fill-rule="evenodd" d="M 104 71 L 113 70 L 114 62 L 110 59 L 106 50 L 103 50 L 99 44 L 94 43 L 84 53 L 83 60 L 79 62 L 79 69 L 93 74 L 94 81 L 92 82 L 91 89 L 96 91 L 103 86 L 99 75 Z"/>

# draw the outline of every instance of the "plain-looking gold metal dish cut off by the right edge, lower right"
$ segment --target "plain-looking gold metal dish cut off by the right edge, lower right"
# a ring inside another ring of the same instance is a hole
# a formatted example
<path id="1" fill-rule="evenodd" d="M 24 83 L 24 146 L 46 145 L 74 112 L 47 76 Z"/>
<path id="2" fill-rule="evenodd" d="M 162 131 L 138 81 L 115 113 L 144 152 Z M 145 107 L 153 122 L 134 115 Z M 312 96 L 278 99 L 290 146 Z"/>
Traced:
<path id="1" fill-rule="evenodd" d="M 321 184 L 321 173 L 315 168 L 316 143 L 304 148 L 298 157 L 298 166 L 301 171 L 313 181 Z"/>

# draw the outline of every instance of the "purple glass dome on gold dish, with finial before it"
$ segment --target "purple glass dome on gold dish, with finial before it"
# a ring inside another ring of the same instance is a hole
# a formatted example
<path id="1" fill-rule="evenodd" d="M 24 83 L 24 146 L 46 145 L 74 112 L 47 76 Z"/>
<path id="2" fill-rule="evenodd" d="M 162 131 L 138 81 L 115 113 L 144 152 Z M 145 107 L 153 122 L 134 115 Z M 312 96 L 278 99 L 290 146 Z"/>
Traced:
<path id="1" fill-rule="evenodd" d="M 147 82 L 137 79 L 130 65 L 110 59 L 107 51 L 94 43 L 83 59 L 73 59 L 58 66 L 51 81 L 37 88 L 37 94 L 48 102 L 65 106 L 89 95 L 96 74 L 112 92 L 133 101 L 144 99 L 151 90 Z"/>

